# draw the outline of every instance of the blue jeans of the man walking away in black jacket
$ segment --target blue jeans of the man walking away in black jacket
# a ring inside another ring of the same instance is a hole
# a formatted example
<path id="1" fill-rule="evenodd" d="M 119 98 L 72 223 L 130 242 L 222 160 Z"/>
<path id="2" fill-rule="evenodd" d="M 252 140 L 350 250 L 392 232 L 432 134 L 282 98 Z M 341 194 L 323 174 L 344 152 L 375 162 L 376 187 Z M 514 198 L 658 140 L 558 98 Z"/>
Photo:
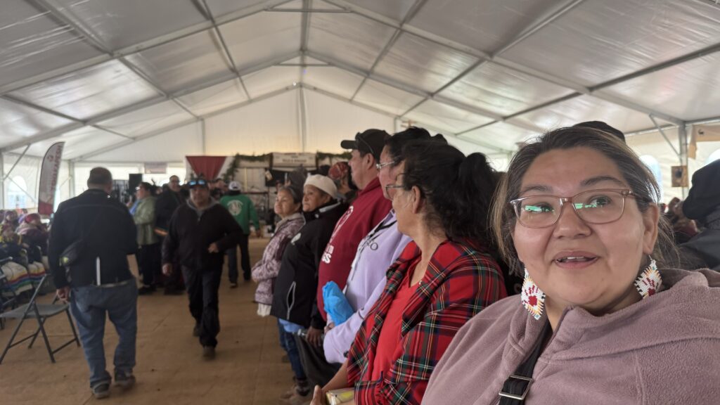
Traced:
<path id="1" fill-rule="evenodd" d="M 115 348 L 115 374 L 132 374 L 135 367 L 135 339 L 138 334 L 138 288 L 132 278 L 123 285 L 73 288 L 70 309 L 83 342 L 90 367 L 90 387 L 110 382 L 105 370 L 105 317 L 109 317 L 120 338 Z"/>

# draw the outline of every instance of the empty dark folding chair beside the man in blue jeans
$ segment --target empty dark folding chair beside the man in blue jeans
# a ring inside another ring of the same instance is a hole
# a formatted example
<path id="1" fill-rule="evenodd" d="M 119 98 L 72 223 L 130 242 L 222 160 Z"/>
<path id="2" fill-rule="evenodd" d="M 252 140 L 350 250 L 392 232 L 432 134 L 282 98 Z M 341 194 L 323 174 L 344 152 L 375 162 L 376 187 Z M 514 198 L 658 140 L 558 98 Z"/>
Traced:
<path id="1" fill-rule="evenodd" d="M 19 319 L 19 322 L 17 323 L 17 326 L 15 327 L 15 330 L 12 332 L 12 337 L 10 337 L 10 341 L 7 342 L 7 345 L 5 347 L 5 350 L 2 352 L 2 355 L 0 356 L 0 364 L 2 364 L 2 360 L 4 360 L 5 355 L 7 354 L 8 350 L 10 350 L 11 347 L 17 346 L 18 344 L 21 344 L 22 342 L 25 342 L 27 339 L 30 340 L 30 345 L 28 345 L 28 349 L 32 347 L 32 344 L 35 343 L 35 339 L 37 339 L 37 334 L 42 333 L 42 339 L 45 340 L 45 347 L 48 349 L 48 355 L 50 355 L 50 361 L 55 362 L 55 353 L 59 352 L 60 350 L 67 347 L 69 344 L 72 344 L 75 342 L 75 344 L 79 347 L 80 346 L 80 340 L 78 339 L 78 334 L 75 331 L 75 325 L 73 324 L 73 319 L 70 316 L 70 305 L 68 303 L 57 303 L 58 298 L 55 297 L 55 300 L 53 300 L 53 303 L 50 304 L 39 304 L 35 300 L 37 299 L 37 294 L 40 293 L 40 289 L 42 288 L 42 285 L 45 284 L 45 280 L 48 278 L 48 275 L 42 276 L 42 279 L 40 280 L 40 284 L 37 285 L 37 288 L 35 288 L 35 292 L 32 293 L 32 298 L 30 298 L 30 302 L 27 304 L 24 304 L 22 306 L 19 306 L 18 308 L 13 309 L 12 311 L 8 311 L 5 313 L 0 313 L 0 319 Z M 57 349 L 53 350 L 52 347 L 50 347 L 50 341 L 48 340 L 48 334 L 45 333 L 45 321 L 48 318 L 52 318 L 55 315 L 59 315 L 60 313 L 66 313 L 68 316 L 68 321 L 70 322 L 70 329 L 73 331 L 73 339 L 69 340 L 68 342 L 65 342 L 62 346 L 58 347 Z M 31 334 L 30 336 L 24 337 L 17 342 L 14 342 L 15 337 L 17 337 L 17 332 L 20 330 L 20 326 L 22 326 L 22 323 L 25 321 L 25 319 L 37 319 L 37 330 L 34 334 Z"/>

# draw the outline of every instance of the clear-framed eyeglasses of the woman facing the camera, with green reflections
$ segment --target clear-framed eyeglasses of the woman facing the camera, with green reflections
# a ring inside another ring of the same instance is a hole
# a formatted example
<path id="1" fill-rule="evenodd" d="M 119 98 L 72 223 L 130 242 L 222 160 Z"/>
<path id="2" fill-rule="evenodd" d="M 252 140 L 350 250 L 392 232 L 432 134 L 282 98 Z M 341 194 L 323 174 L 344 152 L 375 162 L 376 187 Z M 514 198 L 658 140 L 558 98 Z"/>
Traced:
<path id="1" fill-rule="evenodd" d="M 564 205 L 569 203 L 585 223 L 611 223 L 620 219 L 625 210 L 625 198 L 635 197 L 631 190 L 588 190 L 572 197 L 557 195 L 531 195 L 510 201 L 518 222 L 526 228 L 547 228 L 557 223 Z"/>

